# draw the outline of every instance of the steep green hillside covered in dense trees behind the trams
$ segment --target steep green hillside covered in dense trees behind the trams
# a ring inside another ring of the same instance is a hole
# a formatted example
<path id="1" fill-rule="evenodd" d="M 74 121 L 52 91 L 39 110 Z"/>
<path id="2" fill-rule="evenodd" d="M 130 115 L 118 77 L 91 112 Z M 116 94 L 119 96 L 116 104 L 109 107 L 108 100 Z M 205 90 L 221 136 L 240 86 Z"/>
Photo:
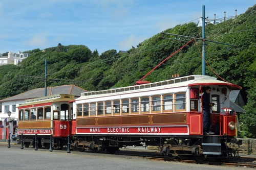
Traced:
<path id="1" fill-rule="evenodd" d="M 206 38 L 234 44 L 206 42 L 206 61 L 223 79 L 243 87 L 242 94 L 247 101 L 246 114 L 239 115 L 243 133 L 256 137 L 256 6 L 234 19 L 206 26 Z M 202 36 L 202 28 L 191 22 L 178 25 L 164 32 L 186 36 Z M 141 42 L 128 53 L 109 50 L 101 55 L 84 45 L 50 47 L 41 51 L 35 49 L 25 53 L 31 55 L 20 65 L 0 66 L 0 98 L 4 99 L 24 91 L 44 87 L 44 79 L 18 75 L 44 77 L 47 59 L 48 86 L 74 84 L 86 90 L 102 90 L 111 87 L 134 85 L 148 71 L 166 57 L 177 51 L 190 39 L 167 36 L 161 33 Z M 164 62 L 147 76 L 146 81 L 156 82 L 180 76 L 202 74 L 202 42 L 189 43 L 180 52 Z M 206 75 L 217 76 L 207 66 Z M 56 79 L 72 80 L 60 81 Z M 219 79 L 219 78 L 218 78 Z"/>

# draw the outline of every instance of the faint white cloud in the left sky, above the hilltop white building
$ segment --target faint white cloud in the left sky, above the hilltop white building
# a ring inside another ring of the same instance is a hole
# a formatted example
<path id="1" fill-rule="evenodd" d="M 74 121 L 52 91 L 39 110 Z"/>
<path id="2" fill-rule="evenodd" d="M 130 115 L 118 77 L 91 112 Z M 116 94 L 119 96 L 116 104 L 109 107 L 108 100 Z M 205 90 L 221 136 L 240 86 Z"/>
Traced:
<path id="1" fill-rule="evenodd" d="M 47 34 L 45 33 L 33 35 L 31 39 L 24 41 L 24 43 L 32 47 L 39 47 L 39 48 L 45 48 L 49 44 L 47 40 Z"/>

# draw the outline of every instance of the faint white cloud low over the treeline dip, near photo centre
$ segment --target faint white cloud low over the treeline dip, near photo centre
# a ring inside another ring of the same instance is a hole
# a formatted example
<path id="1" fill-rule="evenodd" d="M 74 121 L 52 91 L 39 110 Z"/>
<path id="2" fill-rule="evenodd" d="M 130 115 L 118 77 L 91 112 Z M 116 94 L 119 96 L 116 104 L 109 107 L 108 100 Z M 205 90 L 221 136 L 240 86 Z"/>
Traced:
<path id="1" fill-rule="evenodd" d="M 144 41 L 146 37 L 136 37 L 135 35 L 130 35 L 129 37 L 119 41 L 118 45 L 122 50 L 129 50 L 132 46 L 138 45 L 140 42 Z"/>

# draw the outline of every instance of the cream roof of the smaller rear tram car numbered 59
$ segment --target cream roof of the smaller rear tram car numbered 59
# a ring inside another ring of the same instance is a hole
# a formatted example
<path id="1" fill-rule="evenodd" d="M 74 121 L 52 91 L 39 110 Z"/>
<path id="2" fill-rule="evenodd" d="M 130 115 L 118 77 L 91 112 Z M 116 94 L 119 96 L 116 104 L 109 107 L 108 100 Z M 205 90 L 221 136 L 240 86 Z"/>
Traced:
<path id="1" fill-rule="evenodd" d="M 28 106 L 28 105 L 36 105 L 43 103 L 56 103 L 56 102 L 69 102 L 74 100 L 74 95 L 71 94 L 54 94 L 48 95 L 41 98 L 28 99 L 26 103 L 19 105 L 18 107 Z"/>

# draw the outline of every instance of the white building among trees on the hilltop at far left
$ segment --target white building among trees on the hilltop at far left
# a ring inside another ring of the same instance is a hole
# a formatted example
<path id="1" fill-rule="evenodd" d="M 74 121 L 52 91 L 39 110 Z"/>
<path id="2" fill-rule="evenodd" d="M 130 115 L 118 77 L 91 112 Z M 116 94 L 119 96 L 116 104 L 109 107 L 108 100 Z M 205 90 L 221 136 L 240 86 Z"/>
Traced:
<path id="1" fill-rule="evenodd" d="M 30 54 L 28 53 L 13 53 L 9 52 L 8 56 L 2 56 L 0 54 L 0 65 L 5 65 L 5 64 L 15 64 L 18 65 L 18 63 L 22 62 L 22 60 L 26 59 Z"/>

